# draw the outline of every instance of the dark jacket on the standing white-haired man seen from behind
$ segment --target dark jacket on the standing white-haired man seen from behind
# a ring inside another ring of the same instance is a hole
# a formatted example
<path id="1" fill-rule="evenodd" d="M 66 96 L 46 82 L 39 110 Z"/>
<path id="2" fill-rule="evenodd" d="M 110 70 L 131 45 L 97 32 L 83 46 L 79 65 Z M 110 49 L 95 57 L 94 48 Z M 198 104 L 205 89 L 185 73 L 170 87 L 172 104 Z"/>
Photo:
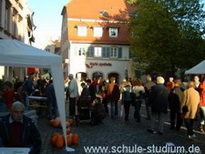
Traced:
<path id="1" fill-rule="evenodd" d="M 167 113 L 169 91 L 163 84 L 157 84 L 151 88 L 149 104 L 152 112 Z"/>

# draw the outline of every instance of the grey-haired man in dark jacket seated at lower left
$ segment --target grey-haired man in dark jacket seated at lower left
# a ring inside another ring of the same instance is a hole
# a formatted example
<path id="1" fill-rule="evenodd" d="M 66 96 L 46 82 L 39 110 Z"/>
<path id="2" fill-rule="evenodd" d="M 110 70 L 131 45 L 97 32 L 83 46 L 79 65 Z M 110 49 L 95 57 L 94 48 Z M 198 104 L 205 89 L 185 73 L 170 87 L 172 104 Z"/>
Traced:
<path id="1" fill-rule="evenodd" d="M 0 145 L 1 147 L 27 147 L 29 154 L 37 154 L 41 151 L 41 135 L 34 121 L 23 115 L 25 106 L 23 103 L 14 102 L 10 114 L 0 121 Z"/>

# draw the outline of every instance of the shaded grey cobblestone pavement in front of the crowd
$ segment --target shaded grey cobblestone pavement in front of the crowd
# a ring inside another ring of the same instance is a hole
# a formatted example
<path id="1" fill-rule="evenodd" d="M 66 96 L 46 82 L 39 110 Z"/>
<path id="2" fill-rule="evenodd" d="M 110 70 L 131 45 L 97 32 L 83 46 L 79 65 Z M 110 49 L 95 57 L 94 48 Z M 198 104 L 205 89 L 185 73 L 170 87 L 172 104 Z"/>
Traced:
<path id="1" fill-rule="evenodd" d="M 150 134 L 147 132 L 149 127 L 149 120 L 145 119 L 144 105 L 141 108 L 142 122 L 136 123 L 133 119 L 133 107 L 131 106 L 130 120 L 124 121 L 124 118 L 118 117 L 115 120 L 111 120 L 107 117 L 103 124 L 97 126 L 90 126 L 86 123 L 80 123 L 79 126 L 72 126 L 73 133 L 80 135 L 80 141 L 78 145 L 70 146 L 75 149 L 75 154 L 86 153 L 85 147 L 107 147 L 110 153 L 115 150 L 116 147 L 142 147 L 143 152 L 148 153 L 148 146 L 165 146 L 166 144 L 174 144 L 175 146 L 183 146 L 186 150 L 192 150 L 196 146 L 199 146 L 202 153 L 205 151 L 204 141 L 205 135 L 195 131 L 197 138 L 190 140 L 186 136 L 186 129 L 183 127 L 180 131 L 170 130 L 169 128 L 169 115 L 164 127 L 164 134 Z M 39 116 L 38 127 L 41 131 L 43 139 L 43 147 L 41 154 L 64 154 L 68 153 L 64 148 L 56 149 L 50 144 L 50 136 L 53 132 L 62 132 L 60 128 L 52 128 L 48 125 L 48 120 Z M 195 130 L 197 129 L 197 123 L 195 124 Z M 135 151 L 136 152 L 136 151 Z M 71 153 L 71 152 L 70 152 Z M 94 153 L 94 152 L 90 152 Z M 96 152 L 100 153 L 100 152 Z M 101 152 L 102 153 L 102 152 Z M 109 152 L 107 152 L 109 153 Z M 116 151 L 113 153 L 117 153 Z M 126 152 L 121 152 L 126 153 Z M 152 151 L 152 153 L 154 153 Z"/>

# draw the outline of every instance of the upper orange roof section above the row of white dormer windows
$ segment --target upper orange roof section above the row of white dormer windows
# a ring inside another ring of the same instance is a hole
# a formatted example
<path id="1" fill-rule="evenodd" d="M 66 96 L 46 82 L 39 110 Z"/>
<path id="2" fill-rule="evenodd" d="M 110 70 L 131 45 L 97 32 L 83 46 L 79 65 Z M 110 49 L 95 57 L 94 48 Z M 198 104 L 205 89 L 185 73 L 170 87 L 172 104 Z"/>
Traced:
<path id="1" fill-rule="evenodd" d="M 66 9 L 68 18 L 125 20 L 135 8 L 124 0 L 71 0 Z M 100 15 L 102 11 L 108 16 Z"/>

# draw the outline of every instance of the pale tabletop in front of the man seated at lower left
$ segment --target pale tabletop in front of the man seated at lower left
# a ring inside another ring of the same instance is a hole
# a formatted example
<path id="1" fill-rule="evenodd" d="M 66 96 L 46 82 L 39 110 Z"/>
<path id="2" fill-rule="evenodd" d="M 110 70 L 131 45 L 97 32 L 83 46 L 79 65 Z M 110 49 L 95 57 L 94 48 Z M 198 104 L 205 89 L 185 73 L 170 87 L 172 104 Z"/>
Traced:
<path id="1" fill-rule="evenodd" d="M 1 148 L 0 154 L 28 154 L 30 148 Z"/>

